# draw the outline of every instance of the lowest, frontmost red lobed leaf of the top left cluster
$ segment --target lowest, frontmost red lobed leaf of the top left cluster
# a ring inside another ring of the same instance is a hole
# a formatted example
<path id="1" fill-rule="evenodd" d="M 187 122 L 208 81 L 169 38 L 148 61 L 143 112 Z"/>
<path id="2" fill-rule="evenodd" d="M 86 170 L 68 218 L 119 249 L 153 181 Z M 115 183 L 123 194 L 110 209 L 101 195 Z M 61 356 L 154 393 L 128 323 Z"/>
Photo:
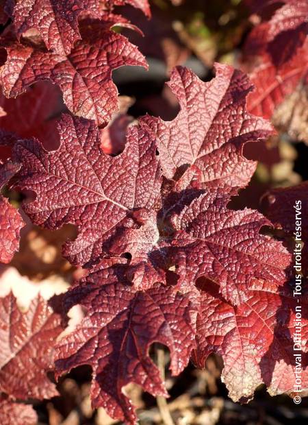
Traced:
<path id="1" fill-rule="evenodd" d="M 103 23 L 86 20 L 81 34 L 83 40 L 68 56 L 46 51 L 34 38 L 26 44 L 11 42 L 1 73 L 5 96 L 16 97 L 34 82 L 51 80 L 62 90 L 71 112 L 105 125 L 118 110 L 112 71 L 124 65 L 146 67 L 146 60 L 127 38 Z"/>

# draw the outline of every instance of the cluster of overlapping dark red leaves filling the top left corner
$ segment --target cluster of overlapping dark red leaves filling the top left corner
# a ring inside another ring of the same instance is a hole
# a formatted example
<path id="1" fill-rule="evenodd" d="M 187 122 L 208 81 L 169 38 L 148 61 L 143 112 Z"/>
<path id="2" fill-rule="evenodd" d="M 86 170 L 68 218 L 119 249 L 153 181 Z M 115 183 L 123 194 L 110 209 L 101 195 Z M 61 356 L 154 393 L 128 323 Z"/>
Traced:
<path id="1" fill-rule="evenodd" d="M 137 47 L 111 30 L 114 25 L 132 27 L 123 16 L 112 13 L 114 5 L 124 3 L 149 14 L 147 1 L 16 3 L 10 8 L 13 23 L 1 36 L 7 52 L 1 71 L 5 96 L 16 97 L 34 82 L 50 80 L 62 90 L 71 112 L 105 125 L 118 108 L 112 71 L 123 65 L 147 66 Z"/>

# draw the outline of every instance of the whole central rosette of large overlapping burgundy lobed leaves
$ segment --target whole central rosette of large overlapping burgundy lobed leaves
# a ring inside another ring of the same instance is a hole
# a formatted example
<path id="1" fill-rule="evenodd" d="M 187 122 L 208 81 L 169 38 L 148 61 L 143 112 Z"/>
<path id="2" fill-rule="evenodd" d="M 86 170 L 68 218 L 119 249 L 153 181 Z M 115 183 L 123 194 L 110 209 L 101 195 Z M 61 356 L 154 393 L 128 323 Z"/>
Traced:
<path id="1" fill-rule="evenodd" d="M 262 382 L 272 393 L 292 382 L 290 350 L 271 351 L 272 344 L 292 345 L 275 328 L 279 308 L 292 308 L 281 301 L 290 255 L 259 234 L 270 222 L 257 211 L 227 208 L 255 169 L 242 156 L 244 143 L 272 128 L 246 112 L 251 84 L 229 66 L 217 65 L 209 83 L 177 68 L 170 88 L 181 104 L 177 118 L 143 117 L 129 127 L 118 156 L 103 154 L 95 123 L 68 115 L 56 151 L 33 140 L 15 147 L 18 184 L 36 193 L 25 212 L 49 229 L 75 224 L 77 239 L 64 245 L 64 255 L 89 269 L 65 297 L 66 309 L 80 303 L 88 315 L 60 341 L 57 373 L 90 364 L 92 403 L 127 423 L 136 421 L 123 393 L 127 383 L 166 396 L 149 357 L 155 341 L 170 349 L 172 374 L 192 350 L 199 365 L 209 352 L 222 354 L 235 400 L 251 397 Z M 229 308 L 225 328 L 213 303 Z M 288 326 L 284 314 L 279 320 Z M 288 379 L 278 383 L 282 369 Z"/>

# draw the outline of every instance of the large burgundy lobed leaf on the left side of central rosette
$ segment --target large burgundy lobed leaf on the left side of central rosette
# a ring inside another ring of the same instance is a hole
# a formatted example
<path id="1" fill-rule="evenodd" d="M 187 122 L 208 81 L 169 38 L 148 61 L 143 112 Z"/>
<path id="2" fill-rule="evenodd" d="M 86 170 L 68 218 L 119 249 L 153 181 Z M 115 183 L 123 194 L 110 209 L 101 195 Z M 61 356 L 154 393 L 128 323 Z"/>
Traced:
<path id="1" fill-rule="evenodd" d="M 100 149 L 94 123 L 64 115 L 60 149 L 45 151 L 36 141 L 16 145 L 23 162 L 20 182 L 37 198 L 25 206 L 34 223 L 57 229 L 72 223 L 77 239 L 68 243 L 70 261 L 97 261 L 117 230 L 136 224 L 133 210 L 151 210 L 160 190 L 160 171 L 154 140 L 142 128 L 132 127 L 125 151 L 112 158 Z M 61 193 L 61 196 L 59 196 Z"/>

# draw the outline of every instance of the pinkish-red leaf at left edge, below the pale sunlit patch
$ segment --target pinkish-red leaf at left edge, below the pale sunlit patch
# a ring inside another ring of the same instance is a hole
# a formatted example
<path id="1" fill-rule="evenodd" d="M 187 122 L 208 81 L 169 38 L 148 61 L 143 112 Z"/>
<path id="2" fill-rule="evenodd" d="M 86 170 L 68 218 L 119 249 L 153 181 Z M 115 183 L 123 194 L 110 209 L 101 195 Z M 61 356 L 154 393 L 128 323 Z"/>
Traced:
<path id="1" fill-rule="evenodd" d="M 0 299 L 0 332 L 0 390 L 21 400 L 56 396 L 47 372 L 53 367 L 53 344 L 62 332 L 60 316 L 40 296 L 22 313 L 10 293 Z"/>

